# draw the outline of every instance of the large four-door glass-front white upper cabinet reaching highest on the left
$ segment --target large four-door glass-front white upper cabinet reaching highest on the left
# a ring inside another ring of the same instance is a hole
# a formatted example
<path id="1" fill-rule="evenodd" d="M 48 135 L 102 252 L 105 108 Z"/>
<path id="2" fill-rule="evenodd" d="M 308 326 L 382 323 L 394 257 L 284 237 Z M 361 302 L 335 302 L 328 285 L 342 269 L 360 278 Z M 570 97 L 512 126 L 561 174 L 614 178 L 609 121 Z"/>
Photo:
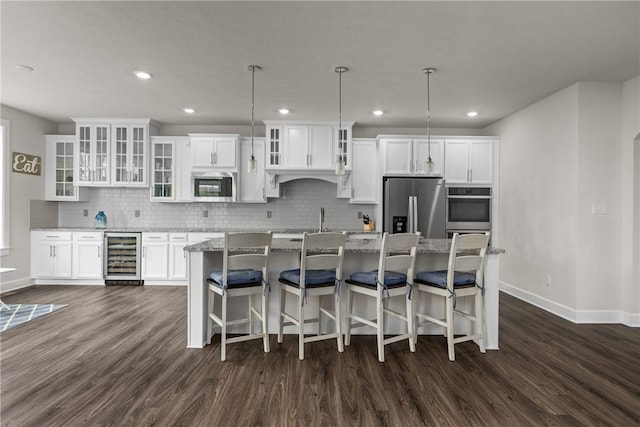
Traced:
<path id="1" fill-rule="evenodd" d="M 150 119 L 83 119 L 76 122 L 74 175 L 78 185 L 146 187 Z"/>

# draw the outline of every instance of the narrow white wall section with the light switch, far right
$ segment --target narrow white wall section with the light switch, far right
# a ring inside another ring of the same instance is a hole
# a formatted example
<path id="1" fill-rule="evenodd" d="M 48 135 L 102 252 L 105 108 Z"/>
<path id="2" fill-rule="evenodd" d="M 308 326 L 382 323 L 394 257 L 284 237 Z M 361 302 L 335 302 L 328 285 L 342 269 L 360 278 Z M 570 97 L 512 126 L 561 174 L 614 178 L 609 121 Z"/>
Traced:
<path id="1" fill-rule="evenodd" d="M 576 309 L 620 310 L 622 84 L 578 83 Z M 607 214 L 594 214 L 593 205 Z"/>

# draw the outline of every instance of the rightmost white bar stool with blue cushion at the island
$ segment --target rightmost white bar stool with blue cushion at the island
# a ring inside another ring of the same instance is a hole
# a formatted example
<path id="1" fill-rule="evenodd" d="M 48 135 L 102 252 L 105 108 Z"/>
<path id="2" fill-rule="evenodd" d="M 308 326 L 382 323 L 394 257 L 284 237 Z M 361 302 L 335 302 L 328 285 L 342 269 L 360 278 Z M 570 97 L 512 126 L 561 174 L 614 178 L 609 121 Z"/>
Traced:
<path id="1" fill-rule="evenodd" d="M 444 327 L 447 337 L 449 360 L 456 360 L 454 345 L 465 341 L 477 340 L 480 352 L 484 347 L 484 258 L 489 246 L 489 233 L 453 235 L 449 262 L 446 270 L 421 271 L 416 274 L 416 300 L 419 306 L 421 294 L 444 299 L 445 317 L 436 318 L 418 311 L 418 326 L 435 323 Z M 460 298 L 473 297 L 475 311 L 458 307 Z M 455 337 L 455 315 L 473 322 L 473 332 Z M 417 340 L 417 335 L 415 336 Z"/>

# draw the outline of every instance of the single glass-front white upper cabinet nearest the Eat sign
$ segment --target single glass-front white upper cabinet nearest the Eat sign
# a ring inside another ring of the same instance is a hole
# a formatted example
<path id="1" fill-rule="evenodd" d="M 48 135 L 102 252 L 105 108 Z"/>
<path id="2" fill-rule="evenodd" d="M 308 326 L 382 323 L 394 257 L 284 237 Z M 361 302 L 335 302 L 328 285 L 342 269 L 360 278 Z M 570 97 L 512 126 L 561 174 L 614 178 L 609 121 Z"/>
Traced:
<path id="1" fill-rule="evenodd" d="M 45 200 L 87 200 L 86 189 L 74 179 L 75 140 L 75 135 L 45 135 Z"/>

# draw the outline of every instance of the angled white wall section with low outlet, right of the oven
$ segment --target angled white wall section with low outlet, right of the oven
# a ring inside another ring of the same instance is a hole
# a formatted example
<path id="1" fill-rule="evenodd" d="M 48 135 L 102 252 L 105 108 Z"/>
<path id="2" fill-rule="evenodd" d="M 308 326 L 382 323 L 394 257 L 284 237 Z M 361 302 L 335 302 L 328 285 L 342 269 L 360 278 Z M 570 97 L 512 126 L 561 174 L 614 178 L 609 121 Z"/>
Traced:
<path id="1" fill-rule="evenodd" d="M 500 279 L 568 307 L 577 286 L 577 101 L 573 85 L 485 129 L 500 137 Z"/>

